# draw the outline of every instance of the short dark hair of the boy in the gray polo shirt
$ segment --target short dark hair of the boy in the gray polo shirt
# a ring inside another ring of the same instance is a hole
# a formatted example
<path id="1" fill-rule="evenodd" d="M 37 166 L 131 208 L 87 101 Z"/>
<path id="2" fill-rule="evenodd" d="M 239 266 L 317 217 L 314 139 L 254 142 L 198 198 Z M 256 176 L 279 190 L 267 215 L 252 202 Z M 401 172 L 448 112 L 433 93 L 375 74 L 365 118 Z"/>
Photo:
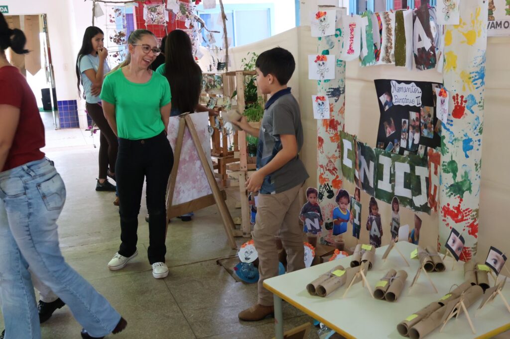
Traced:
<path id="1" fill-rule="evenodd" d="M 287 49 L 275 47 L 262 52 L 255 67 L 260 69 L 264 76 L 272 74 L 281 85 L 285 85 L 296 69 L 296 62 Z"/>

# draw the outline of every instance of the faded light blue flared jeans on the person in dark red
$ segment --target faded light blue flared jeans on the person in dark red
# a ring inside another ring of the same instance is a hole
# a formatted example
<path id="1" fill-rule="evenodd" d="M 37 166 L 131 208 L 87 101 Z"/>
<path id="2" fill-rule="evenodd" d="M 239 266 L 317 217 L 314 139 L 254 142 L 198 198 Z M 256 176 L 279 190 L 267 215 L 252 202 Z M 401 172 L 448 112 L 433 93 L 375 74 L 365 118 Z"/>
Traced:
<path id="1" fill-rule="evenodd" d="M 92 336 L 112 332 L 120 315 L 62 257 L 57 219 L 64 182 L 48 159 L 0 173 L 0 297 L 6 338 L 40 338 L 30 270 Z"/>

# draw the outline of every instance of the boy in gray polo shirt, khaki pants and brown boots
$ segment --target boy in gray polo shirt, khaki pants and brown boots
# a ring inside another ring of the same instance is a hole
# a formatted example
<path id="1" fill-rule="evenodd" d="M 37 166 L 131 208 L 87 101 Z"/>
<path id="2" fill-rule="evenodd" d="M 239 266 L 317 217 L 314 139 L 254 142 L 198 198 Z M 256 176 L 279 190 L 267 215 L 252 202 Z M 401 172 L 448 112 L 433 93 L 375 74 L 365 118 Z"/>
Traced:
<path id="1" fill-rule="evenodd" d="M 303 146 L 299 104 L 287 87 L 295 69 L 292 54 L 273 48 L 260 54 L 256 63 L 257 86 L 271 94 L 265 106 L 260 130 L 246 118 L 237 122 L 247 133 L 259 137 L 257 172 L 246 181 L 249 192 L 259 192 L 253 241 L 259 253 L 258 303 L 239 313 L 244 321 L 262 320 L 274 313 L 272 293 L 264 280 L 278 275 L 275 236 L 282 238 L 288 255 L 288 271 L 304 268 L 302 228 L 298 222 L 301 206 L 299 189 L 308 173 L 298 157 Z"/>

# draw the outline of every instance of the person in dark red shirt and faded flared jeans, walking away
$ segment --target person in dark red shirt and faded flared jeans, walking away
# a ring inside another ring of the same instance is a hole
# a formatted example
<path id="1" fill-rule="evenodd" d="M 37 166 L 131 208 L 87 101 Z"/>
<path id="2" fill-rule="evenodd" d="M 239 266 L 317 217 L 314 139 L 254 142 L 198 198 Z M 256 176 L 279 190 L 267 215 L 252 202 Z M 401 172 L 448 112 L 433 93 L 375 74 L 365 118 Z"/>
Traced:
<path id="1" fill-rule="evenodd" d="M 62 257 L 57 219 L 66 190 L 44 157 L 44 127 L 27 80 L 5 50 L 24 49 L 25 35 L 0 13 L 0 299 L 5 336 L 40 338 L 30 270 L 65 302 L 84 327 L 82 338 L 118 333 L 127 322 Z"/>

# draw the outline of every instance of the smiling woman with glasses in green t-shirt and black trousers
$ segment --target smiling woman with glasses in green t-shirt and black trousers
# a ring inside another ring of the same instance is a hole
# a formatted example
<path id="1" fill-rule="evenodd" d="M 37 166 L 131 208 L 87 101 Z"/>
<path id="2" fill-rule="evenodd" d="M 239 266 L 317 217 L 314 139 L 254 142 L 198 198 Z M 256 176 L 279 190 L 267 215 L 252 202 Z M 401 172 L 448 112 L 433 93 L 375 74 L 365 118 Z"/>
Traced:
<path id="1" fill-rule="evenodd" d="M 161 52 L 155 35 L 136 30 L 127 42 L 131 63 L 107 75 L 101 91 L 105 116 L 119 137 L 116 179 L 121 244 L 108 267 L 119 270 L 138 254 L 138 213 L 145 178 L 150 213 L 147 255 L 152 275 L 164 278 L 168 275 L 165 194 L 173 166 L 173 152 L 166 138 L 170 87 L 165 77 L 149 69 Z"/>

